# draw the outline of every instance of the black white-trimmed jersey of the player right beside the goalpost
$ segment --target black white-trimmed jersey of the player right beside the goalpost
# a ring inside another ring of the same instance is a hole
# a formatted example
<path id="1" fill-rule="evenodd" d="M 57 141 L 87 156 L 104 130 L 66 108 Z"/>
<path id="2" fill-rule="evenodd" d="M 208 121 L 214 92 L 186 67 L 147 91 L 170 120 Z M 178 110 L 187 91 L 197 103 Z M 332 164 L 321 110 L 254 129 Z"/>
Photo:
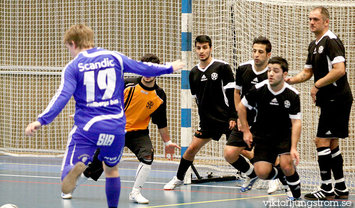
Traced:
<path id="1" fill-rule="evenodd" d="M 212 59 L 205 68 L 195 65 L 189 74 L 191 94 L 196 98 L 200 127 L 225 127 L 236 118 L 234 75 L 225 61 Z M 226 123 L 227 122 L 227 123 Z"/>

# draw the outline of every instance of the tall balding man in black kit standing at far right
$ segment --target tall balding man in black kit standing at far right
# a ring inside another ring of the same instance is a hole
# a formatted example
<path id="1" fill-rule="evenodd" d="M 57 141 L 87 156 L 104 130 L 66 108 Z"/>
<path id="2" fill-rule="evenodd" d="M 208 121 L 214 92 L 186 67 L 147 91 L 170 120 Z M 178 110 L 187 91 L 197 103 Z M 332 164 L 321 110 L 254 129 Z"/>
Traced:
<path id="1" fill-rule="evenodd" d="M 339 149 L 339 138 L 348 137 L 348 122 L 352 105 L 352 93 L 347 82 L 345 49 L 339 38 L 329 30 L 329 12 L 316 7 L 309 13 L 310 31 L 316 40 L 308 47 L 307 62 L 303 70 L 286 81 L 290 84 L 309 80 L 314 74 L 314 85 L 310 90 L 315 105 L 321 108 L 315 145 L 321 173 L 321 187 L 304 198 L 311 200 L 347 199 L 343 158 Z M 332 175 L 335 187 L 332 186 Z"/>

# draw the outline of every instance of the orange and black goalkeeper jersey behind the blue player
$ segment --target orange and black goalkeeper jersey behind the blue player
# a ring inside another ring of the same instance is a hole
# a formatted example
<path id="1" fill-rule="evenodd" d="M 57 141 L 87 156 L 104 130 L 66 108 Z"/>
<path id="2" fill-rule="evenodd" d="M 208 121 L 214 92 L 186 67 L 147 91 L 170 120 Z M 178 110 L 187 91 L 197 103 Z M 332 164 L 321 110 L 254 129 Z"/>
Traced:
<path id="1" fill-rule="evenodd" d="M 146 87 L 141 77 L 126 78 L 124 89 L 124 106 L 126 130 L 147 129 L 150 118 L 158 128 L 167 126 L 166 94 L 157 84 Z"/>

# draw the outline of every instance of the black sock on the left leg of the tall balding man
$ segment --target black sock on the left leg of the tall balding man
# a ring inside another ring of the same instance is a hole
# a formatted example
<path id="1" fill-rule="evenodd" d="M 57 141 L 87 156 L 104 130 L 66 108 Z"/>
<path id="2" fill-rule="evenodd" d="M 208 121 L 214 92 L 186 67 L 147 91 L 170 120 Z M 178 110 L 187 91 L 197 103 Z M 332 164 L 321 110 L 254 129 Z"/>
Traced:
<path id="1" fill-rule="evenodd" d="M 330 147 L 319 147 L 318 152 L 318 165 L 319 171 L 321 172 L 322 186 L 321 188 L 325 191 L 332 190 L 332 173 L 331 173 L 331 163 L 332 155 Z"/>

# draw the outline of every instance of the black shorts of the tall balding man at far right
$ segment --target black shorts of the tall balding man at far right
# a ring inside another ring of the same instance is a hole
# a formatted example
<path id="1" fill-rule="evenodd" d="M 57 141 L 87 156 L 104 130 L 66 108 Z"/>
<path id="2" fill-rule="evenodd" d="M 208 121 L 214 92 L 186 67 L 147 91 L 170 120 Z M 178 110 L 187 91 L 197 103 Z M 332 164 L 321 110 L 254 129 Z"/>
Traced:
<path id="1" fill-rule="evenodd" d="M 349 117 L 352 101 L 330 101 L 321 106 L 317 137 L 346 138 L 349 136 Z"/>

